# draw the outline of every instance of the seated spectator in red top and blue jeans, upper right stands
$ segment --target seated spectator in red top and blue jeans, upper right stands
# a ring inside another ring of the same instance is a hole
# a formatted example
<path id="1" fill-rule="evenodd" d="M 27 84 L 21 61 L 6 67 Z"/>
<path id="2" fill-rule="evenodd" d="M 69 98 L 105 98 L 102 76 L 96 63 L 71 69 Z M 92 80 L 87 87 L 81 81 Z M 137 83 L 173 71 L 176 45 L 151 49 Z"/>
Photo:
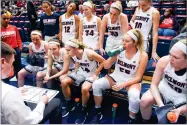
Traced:
<path id="1" fill-rule="evenodd" d="M 173 16 L 173 9 L 167 8 L 164 15 L 160 18 L 160 25 L 158 29 L 159 36 L 176 36 L 178 30 L 178 22 Z"/>

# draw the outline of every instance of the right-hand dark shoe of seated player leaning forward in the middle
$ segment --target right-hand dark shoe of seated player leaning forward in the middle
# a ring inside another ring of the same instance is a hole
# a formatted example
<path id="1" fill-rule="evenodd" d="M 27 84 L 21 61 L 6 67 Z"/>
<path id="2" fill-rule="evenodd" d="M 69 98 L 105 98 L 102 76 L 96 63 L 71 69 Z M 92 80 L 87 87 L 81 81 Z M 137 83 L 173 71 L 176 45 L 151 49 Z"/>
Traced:
<path id="1" fill-rule="evenodd" d="M 75 124 L 84 124 L 88 116 L 88 107 L 82 107 L 78 119 Z"/>

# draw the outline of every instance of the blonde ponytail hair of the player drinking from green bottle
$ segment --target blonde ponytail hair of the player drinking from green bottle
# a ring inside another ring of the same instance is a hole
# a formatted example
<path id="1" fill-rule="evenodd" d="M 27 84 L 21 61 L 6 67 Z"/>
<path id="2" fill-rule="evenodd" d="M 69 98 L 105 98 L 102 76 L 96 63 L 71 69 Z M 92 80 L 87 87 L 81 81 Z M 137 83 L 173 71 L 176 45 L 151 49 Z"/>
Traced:
<path id="1" fill-rule="evenodd" d="M 133 41 L 136 47 L 138 48 L 138 50 L 140 50 L 140 52 L 143 52 L 144 40 L 141 31 L 139 29 L 131 29 L 128 32 L 132 32 L 137 37 L 138 40 L 137 41 L 133 40 Z"/>

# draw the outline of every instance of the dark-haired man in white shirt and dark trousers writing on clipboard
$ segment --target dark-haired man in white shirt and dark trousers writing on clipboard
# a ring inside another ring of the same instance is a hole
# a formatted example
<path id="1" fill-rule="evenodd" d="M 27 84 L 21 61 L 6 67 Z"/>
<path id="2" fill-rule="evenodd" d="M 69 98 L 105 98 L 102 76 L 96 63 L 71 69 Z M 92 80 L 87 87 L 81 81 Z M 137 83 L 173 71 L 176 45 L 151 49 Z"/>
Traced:
<path id="1" fill-rule="evenodd" d="M 1 79 L 7 78 L 14 62 L 16 52 L 9 45 L 1 42 Z M 1 82 L 1 123 L 2 124 L 44 124 L 48 119 L 51 124 L 62 123 L 61 101 L 48 97 L 40 97 L 38 104 L 25 105 L 21 91 L 11 85 Z M 47 104 L 47 105 L 46 105 Z"/>

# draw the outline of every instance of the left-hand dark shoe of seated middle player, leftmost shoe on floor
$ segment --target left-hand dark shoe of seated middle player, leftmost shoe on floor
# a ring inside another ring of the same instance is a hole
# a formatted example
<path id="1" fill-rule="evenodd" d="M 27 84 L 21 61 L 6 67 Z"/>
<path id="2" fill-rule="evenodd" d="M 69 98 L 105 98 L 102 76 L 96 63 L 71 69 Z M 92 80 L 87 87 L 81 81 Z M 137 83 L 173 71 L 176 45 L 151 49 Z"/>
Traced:
<path id="1" fill-rule="evenodd" d="M 75 109 L 74 102 L 72 100 L 68 101 L 66 108 L 62 109 L 62 118 L 68 116 L 69 112 L 73 111 L 74 109 Z"/>

